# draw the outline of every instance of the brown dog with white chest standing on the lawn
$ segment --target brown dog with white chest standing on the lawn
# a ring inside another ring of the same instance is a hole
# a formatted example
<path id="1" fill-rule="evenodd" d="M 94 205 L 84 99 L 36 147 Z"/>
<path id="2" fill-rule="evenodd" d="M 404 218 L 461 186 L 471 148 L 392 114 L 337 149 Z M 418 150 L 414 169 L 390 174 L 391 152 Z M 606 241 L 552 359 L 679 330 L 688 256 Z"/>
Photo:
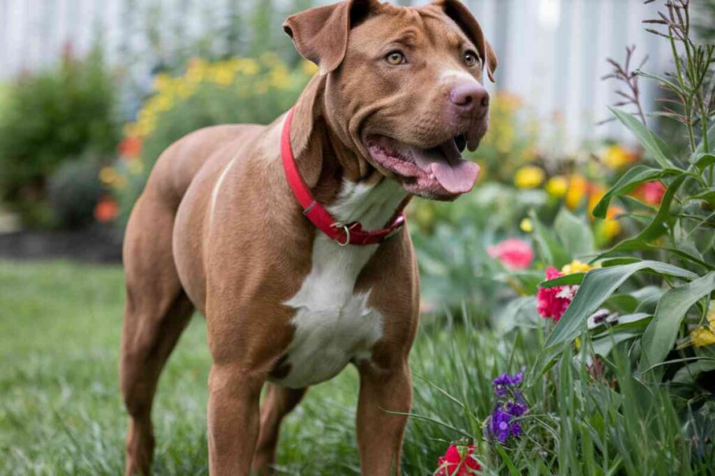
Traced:
<path id="1" fill-rule="evenodd" d="M 410 196 L 452 200 L 473 187 L 478 168 L 460 150 L 487 129 L 482 71 L 491 78 L 497 61 L 462 4 L 344 1 L 291 16 L 285 31 L 320 66 L 294 108 L 290 146 L 336 221 L 373 230 Z M 120 371 L 128 475 L 150 470 L 157 380 L 194 309 L 206 316 L 213 358 L 212 474 L 269 472 L 282 418 L 347 363 L 360 372 L 363 474 L 399 472 L 406 417 L 385 410 L 410 410 L 412 243 L 405 229 L 344 247 L 319 231 L 282 168 L 284 122 L 182 138 L 134 207 Z"/>

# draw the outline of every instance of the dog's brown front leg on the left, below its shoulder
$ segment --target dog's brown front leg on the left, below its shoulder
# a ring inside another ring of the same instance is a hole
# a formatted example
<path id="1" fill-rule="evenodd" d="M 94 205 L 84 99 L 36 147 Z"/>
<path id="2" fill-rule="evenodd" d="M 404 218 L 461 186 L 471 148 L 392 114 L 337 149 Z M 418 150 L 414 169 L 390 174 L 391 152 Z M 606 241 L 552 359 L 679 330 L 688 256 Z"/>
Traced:
<path id="1" fill-rule="evenodd" d="M 209 375 L 208 442 L 212 476 L 247 476 L 260 430 L 264 375 L 213 365 Z"/>

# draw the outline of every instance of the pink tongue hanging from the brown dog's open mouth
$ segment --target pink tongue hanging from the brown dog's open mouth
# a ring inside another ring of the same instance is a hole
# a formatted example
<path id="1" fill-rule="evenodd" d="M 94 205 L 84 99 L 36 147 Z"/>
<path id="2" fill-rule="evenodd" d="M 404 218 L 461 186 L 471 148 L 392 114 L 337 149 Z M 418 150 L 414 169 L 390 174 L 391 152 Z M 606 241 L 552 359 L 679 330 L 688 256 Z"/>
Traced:
<path id="1" fill-rule="evenodd" d="M 465 161 L 454 141 L 428 151 L 413 149 L 415 163 L 425 172 L 431 172 L 443 188 L 450 193 L 467 193 L 474 187 L 479 166 Z"/>

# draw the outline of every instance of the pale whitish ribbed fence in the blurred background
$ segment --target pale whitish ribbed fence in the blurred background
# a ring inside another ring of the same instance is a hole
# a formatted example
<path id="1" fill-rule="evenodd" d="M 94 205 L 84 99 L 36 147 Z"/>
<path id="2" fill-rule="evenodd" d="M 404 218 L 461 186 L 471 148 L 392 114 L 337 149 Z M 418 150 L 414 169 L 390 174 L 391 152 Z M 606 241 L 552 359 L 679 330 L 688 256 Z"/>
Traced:
<path id="1" fill-rule="evenodd" d="M 290 49 L 280 22 L 311 0 L 0 0 L 0 80 L 56 61 L 71 44 L 82 54 L 99 40 L 112 64 L 148 77 L 177 55 Z M 319 0 L 317 3 L 327 3 Z M 409 0 L 400 1 L 402 4 Z M 413 1 L 422 4 L 424 1 Z M 618 136 L 615 125 L 598 126 L 617 101 L 606 57 L 622 59 L 624 46 L 648 54 L 649 71 L 666 69 L 664 42 L 647 34 L 641 20 L 656 4 L 640 0 L 468 0 L 497 51 L 498 87 L 523 98 L 547 136 L 577 143 Z M 251 41 L 246 31 L 252 31 Z M 260 35 L 258 35 L 260 34 Z M 217 41 L 213 36 L 220 37 Z M 655 91 L 645 88 L 645 103 Z"/>

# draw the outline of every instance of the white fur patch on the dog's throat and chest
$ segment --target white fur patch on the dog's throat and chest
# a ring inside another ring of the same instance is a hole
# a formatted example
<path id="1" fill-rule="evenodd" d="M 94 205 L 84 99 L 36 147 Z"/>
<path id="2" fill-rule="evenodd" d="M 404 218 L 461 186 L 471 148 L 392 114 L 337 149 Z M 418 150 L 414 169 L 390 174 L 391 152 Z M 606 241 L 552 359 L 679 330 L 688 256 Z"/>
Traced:
<path id="1" fill-rule="evenodd" d="M 392 181 L 375 187 L 346 182 L 330 213 L 347 223 L 359 220 L 365 229 L 380 228 L 404 198 Z M 316 235 L 310 273 L 286 301 L 297 310 L 295 334 L 281 363 L 287 374 L 271 380 L 302 388 L 334 377 L 351 360 L 370 358 L 373 345 L 383 337 L 383 315 L 368 305 L 369 290 L 355 293 L 355 281 L 377 248 L 343 247 L 322 233 Z"/>

